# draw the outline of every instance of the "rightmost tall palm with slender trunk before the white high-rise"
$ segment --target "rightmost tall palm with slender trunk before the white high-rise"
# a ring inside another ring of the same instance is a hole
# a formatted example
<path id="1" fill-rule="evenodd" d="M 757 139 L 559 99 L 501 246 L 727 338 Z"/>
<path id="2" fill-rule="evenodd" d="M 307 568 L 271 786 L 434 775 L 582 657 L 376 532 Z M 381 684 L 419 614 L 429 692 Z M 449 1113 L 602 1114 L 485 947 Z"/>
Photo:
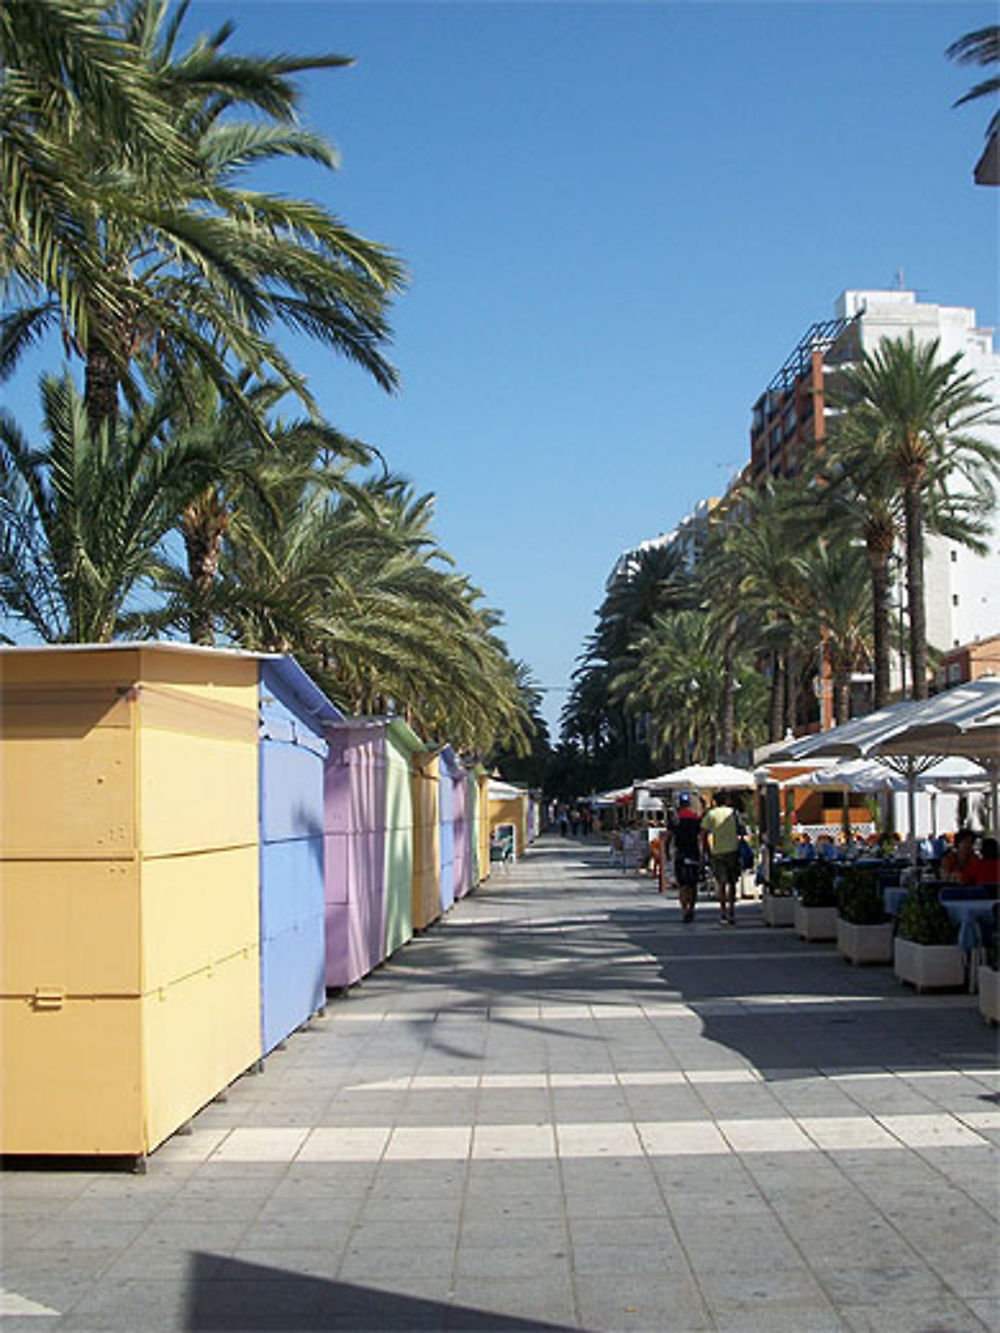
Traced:
<path id="1" fill-rule="evenodd" d="M 979 432 L 996 423 L 995 404 L 961 355 L 940 359 L 939 341 L 884 339 L 860 361 L 840 369 L 831 401 L 849 413 L 849 431 L 864 439 L 872 467 L 884 469 L 903 508 L 909 660 L 913 697 L 927 698 L 927 611 L 924 604 L 924 512 L 928 493 L 964 483 L 967 511 L 985 515 L 995 504 L 1000 449 Z"/>

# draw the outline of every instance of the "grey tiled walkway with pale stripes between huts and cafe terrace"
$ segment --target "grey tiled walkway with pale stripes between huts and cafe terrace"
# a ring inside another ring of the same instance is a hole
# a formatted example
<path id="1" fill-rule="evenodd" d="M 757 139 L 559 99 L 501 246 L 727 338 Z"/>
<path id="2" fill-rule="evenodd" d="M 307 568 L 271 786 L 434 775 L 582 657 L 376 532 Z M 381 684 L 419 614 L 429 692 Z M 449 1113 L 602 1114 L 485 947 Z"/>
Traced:
<path id="1" fill-rule="evenodd" d="M 3 1333 L 1000 1329 L 968 996 L 543 838 L 145 1176 L 8 1170 Z"/>

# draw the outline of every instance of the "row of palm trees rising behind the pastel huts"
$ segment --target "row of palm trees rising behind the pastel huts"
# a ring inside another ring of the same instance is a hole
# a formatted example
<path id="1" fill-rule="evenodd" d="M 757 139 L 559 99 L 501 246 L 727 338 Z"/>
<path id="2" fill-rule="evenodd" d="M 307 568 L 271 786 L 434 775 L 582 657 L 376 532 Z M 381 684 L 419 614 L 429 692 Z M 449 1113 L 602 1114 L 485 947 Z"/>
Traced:
<path id="1" fill-rule="evenodd" d="M 184 48 L 187 9 L 0 11 L 0 376 L 53 333 L 71 361 L 43 376 L 39 439 L 0 412 L 8 627 L 289 651 L 345 709 L 523 749 L 525 669 L 435 541 L 432 497 L 324 421 L 277 343 L 304 332 L 396 385 L 401 261 L 245 180 L 336 165 L 295 76 L 348 60 L 236 55 L 228 23 Z"/>

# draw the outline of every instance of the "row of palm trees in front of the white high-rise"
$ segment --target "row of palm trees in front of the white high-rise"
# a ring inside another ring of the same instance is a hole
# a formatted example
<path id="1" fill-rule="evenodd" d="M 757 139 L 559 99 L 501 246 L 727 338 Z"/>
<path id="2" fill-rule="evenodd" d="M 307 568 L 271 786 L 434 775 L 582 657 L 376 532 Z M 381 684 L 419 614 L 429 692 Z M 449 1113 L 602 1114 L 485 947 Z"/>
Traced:
<path id="1" fill-rule="evenodd" d="M 660 548 L 609 591 L 564 713 L 564 738 L 641 722 L 652 766 L 715 758 L 851 716 L 851 681 L 889 698 L 891 563 L 903 552 L 909 692 L 927 697 L 928 532 L 987 551 L 1000 451 L 996 404 L 936 343 L 885 340 L 832 376 L 833 416 L 795 479 L 735 487 L 688 576 Z M 764 688 L 767 685 L 767 688 Z M 619 745 L 621 741 L 619 738 Z M 632 769 L 628 774 L 641 776 Z"/>

